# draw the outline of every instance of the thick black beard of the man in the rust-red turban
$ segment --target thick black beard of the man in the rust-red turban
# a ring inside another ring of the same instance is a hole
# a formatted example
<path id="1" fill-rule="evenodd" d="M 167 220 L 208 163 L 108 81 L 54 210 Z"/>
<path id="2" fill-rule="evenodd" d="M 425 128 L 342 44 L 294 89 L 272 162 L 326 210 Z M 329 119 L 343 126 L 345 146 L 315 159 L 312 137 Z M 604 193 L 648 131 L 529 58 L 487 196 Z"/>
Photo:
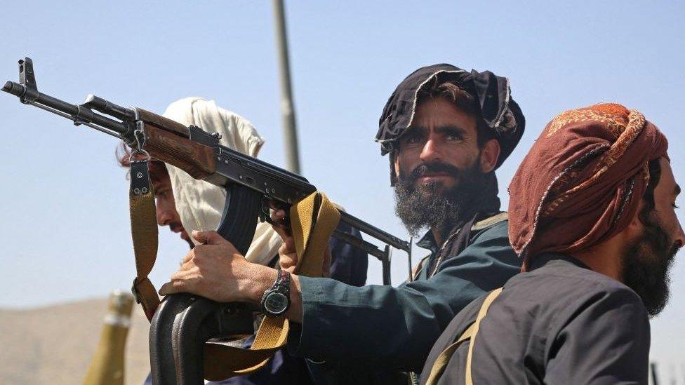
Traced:
<path id="1" fill-rule="evenodd" d="M 668 302 L 668 273 L 679 249 L 653 215 L 652 211 L 640 216 L 644 234 L 626 245 L 622 258 L 623 283 L 639 295 L 649 316 L 656 316 Z"/>

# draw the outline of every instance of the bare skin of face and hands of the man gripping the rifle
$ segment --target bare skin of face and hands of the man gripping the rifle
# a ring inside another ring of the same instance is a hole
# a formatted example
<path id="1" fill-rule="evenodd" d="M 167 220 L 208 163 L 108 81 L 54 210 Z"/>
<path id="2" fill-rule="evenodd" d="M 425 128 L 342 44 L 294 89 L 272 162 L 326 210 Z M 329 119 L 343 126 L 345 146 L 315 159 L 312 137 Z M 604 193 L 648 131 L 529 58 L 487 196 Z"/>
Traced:
<path id="1" fill-rule="evenodd" d="M 411 133 L 411 135 L 409 135 Z M 395 170 L 411 173 L 411 170 L 426 162 L 441 162 L 460 170 L 472 166 L 479 158 L 483 173 L 493 170 L 500 154 L 496 140 L 490 140 L 479 149 L 477 127 L 473 116 L 456 108 L 443 99 L 430 99 L 418 105 L 414 124 L 400 144 L 395 161 Z M 427 173 L 418 177 L 420 183 L 435 182 L 441 190 L 460 183 L 458 178 L 441 173 Z M 272 219 L 281 223 L 285 212 L 276 210 Z M 281 267 L 292 271 L 297 264 L 293 241 L 283 227 L 274 227 L 284 238 L 284 247 L 279 250 Z M 435 234 L 441 243 L 440 234 Z M 196 246 L 185 257 L 180 269 L 171 276 L 171 281 L 163 285 L 159 293 L 169 295 L 177 292 L 190 292 L 218 302 L 260 302 L 260 299 L 274 283 L 277 271 L 266 266 L 251 264 L 235 250 L 233 245 L 221 238 L 215 231 L 194 231 L 193 238 L 204 242 Z M 324 257 L 324 271 L 330 264 L 330 252 Z M 302 323 L 302 295 L 300 281 L 296 274 L 291 275 L 291 306 L 285 314 L 291 321 Z"/>

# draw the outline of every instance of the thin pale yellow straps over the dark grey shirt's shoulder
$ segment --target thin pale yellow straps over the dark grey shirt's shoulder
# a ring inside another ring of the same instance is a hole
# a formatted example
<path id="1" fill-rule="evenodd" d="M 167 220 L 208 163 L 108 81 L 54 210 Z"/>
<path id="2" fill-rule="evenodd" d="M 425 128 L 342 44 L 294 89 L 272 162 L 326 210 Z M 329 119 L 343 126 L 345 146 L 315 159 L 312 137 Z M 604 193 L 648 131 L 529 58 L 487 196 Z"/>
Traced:
<path id="1" fill-rule="evenodd" d="M 461 344 L 463 344 L 463 342 L 469 339 L 471 340 L 471 343 L 469 345 L 469 352 L 466 356 L 465 380 L 467 385 L 473 385 L 473 379 L 471 377 L 471 358 L 473 356 L 473 346 L 476 342 L 476 335 L 478 333 L 481 320 L 485 318 L 486 314 L 488 313 L 488 309 L 490 308 L 490 305 L 498 297 L 498 295 L 500 295 L 500 292 L 502 292 L 502 288 L 493 290 L 490 292 L 490 294 L 488 294 L 488 296 L 484 299 L 483 304 L 481 304 L 481 309 L 478 311 L 478 316 L 476 316 L 476 320 L 474 320 L 474 322 L 466 328 L 466 330 L 462 333 L 459 339 L 457 339 L 455 342 L 447 346 L 435 359 L 435 362 L 433 363 L 433 366 L 430 369 L 430 375 L 428 376 L 426 385 L 437 384 L 438 379 L 440 379 L 440 377 L 444 373 L 445 368 L 447 367 L 447 364 L 449 363 L 450 358 L 452 358 L 454 352 L 458 349 L 459 346 L 461 346 Z"/>

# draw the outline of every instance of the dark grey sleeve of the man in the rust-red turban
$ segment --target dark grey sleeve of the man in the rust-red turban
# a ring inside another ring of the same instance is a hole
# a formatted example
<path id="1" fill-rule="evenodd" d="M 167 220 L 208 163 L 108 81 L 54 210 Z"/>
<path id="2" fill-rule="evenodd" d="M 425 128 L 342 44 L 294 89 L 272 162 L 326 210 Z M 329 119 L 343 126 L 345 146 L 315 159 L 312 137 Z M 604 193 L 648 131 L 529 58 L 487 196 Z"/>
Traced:
<path id="1" fill-rule="evenodd" d="M 547 354 L 545 384 L 647 384 L 649 318 L 627 287 L 571 306 Z"/>

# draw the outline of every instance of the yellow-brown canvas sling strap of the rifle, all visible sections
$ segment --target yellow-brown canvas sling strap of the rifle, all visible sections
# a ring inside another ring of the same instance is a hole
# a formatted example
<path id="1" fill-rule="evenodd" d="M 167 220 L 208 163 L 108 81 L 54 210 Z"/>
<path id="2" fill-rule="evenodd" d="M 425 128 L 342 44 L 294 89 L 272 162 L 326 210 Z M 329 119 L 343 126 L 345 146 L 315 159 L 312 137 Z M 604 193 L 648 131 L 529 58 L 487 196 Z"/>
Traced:
<path id="1" fill-rule="evenodd" d="M 154 191 L 149 182 L 147 161 L 131 161 L 131 234 L 137 275 L 133 295 L 142 305 L 145 316 L 152 320 L 159 306 L 159 296 L 147 276 L 157 258 L 157 215 Z M 290 209 L 291 230 L 298 255 L 295 273 L 321 276 L 324 251 L 333 230 L 338 227 L 340 212 L 324 194 L 314 192 Z M 265 317 L 250 349 L 223 344 L 206 344 L 204 374 L 210 381 L 220 381 L 237 374 L 253 372 L 264 366 L 284 346 L 288 337 L 288 320 Z"/>

